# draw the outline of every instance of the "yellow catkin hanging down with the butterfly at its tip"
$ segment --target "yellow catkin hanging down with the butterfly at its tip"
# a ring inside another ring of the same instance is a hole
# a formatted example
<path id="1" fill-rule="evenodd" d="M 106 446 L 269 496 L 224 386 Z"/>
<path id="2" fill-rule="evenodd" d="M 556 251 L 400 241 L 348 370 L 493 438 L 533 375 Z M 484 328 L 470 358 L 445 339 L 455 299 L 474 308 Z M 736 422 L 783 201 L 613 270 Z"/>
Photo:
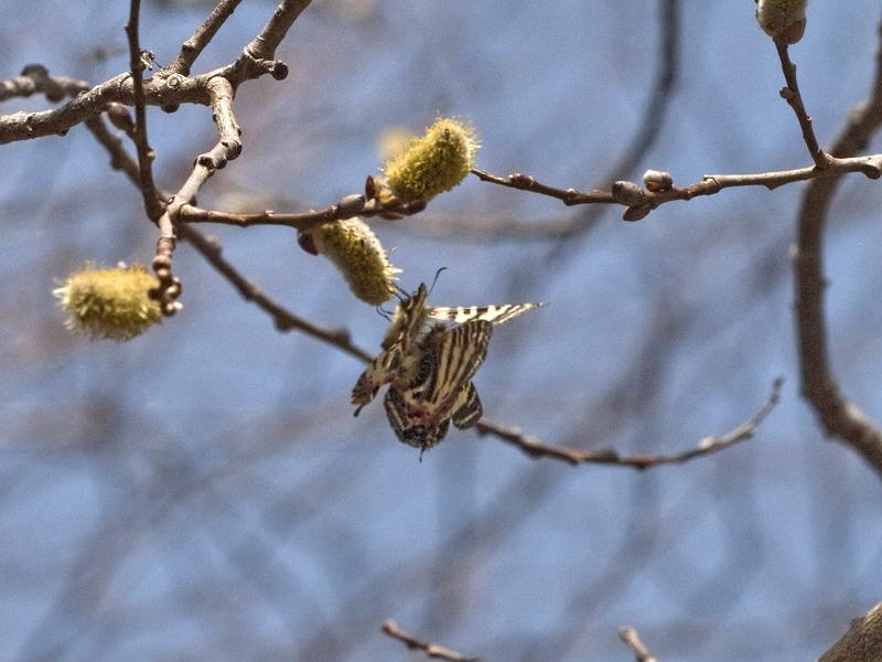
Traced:
<path id="1" fill-rule="evenodd" d="M 361 218 L 323 223 L 301 231 L 298 239 L 304 249 L 314 248 L 334 263 L 362 301 L 379 306 L 391 299 L 395 275 L 401 270 L 389 264 L 379 239 Z"/>

